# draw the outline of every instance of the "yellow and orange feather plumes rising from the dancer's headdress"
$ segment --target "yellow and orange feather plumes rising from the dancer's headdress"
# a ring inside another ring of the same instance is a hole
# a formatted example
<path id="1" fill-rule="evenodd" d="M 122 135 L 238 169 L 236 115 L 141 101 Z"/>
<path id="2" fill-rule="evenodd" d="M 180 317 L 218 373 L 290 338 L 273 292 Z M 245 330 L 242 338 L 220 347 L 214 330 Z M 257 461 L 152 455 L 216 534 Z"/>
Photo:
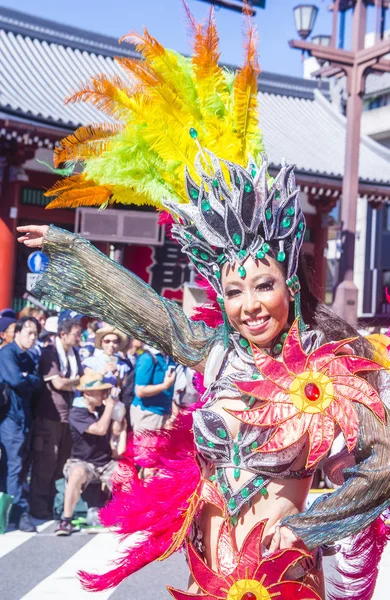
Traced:
<path id="1" fill-rule="evenodd" d="M 193 56 L 164 48 L 145 29 L 120 41 L 135 46 L 143 60 L 116 58 L 121 76 L 96 75 L 66 102 L 88 102 L 106 124 L 80 127 L 60 142 L 54 166 L 81 161 L 83 171 L 46 192 L 48 208 L 108 203 L 188 203 L 184 167 L 193 171 L 198 142 L 221 159 L 243 167 L 261 162 L 258 124 L 256 32 L 247 16 L 245 61 L 232 73 L 219 65 L 214 13 L 197 24 L 186 7 Z M 193 173 L 199 183 L 196 172 Z"/>

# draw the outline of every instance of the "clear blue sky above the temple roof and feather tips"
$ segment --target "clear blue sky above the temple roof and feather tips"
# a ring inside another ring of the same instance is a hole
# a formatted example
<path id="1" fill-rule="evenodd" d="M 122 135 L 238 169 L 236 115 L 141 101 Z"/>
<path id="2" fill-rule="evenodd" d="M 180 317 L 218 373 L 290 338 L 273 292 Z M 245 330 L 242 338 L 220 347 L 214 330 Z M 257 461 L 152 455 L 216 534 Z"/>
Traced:
<path id="1" fill-rule="evenodd" d="M 200 0 L 187 2 L 197 19 L 206 17 L 209 5 Z M 320 8 L 314 34 L 330 33 L 329 0 L 314 3 Z M 296 4 L 298 0 L 266 0 L 266 9 L 257 11 L 260 64 L 264 71 L 298 77 L 303 74 L 301 53 L 288 46 L 288 40 L 297 37 L 293 19 Z M 181 0 L 0 0 L 0 6 L 115 38 L 147 26 L 165 46 L 187 54 L 191 51 Z M 240 64 L 242 17 L 219 9 L 216 18 L 221 37 L 221 60 L 226 64 Z"/>

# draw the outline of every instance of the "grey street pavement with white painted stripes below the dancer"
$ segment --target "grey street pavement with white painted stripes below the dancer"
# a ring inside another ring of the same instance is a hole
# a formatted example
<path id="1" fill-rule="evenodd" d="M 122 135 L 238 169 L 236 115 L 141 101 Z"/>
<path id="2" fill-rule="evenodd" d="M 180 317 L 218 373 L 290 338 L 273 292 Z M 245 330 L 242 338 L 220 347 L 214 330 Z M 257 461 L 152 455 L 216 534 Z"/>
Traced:
<path id="1" fill-rule="evenodd" d="M 103 572 L 118 556 L 111 533 L 54 535 L 53 521 L 38 534 L 10 531 L 0 535 L 0 598 L 3 600 L 168 600 L 165 586 L 185 590 L 188 568 L 182 554 L 155 562 L 118 588 L 92 594 L 80 588 L 79 569 Z M 382 559 L 374 600 L 389 600 L 390 544 Z"/>

